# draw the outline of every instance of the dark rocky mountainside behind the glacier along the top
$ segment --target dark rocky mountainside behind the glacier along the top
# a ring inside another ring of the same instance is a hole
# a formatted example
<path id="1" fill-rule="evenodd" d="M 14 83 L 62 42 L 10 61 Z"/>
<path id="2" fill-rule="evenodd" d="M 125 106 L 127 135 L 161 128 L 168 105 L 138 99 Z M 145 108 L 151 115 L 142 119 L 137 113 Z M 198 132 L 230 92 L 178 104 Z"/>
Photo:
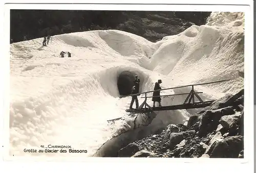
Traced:
<path id="1" fill-rule="evenodd" d="M 11 10 L 10 43 L 91 30 L 121 30 L 155 42 L 205 24 L 210 12 Z M 33 25 L 31 25 L 33 23 Z"/>

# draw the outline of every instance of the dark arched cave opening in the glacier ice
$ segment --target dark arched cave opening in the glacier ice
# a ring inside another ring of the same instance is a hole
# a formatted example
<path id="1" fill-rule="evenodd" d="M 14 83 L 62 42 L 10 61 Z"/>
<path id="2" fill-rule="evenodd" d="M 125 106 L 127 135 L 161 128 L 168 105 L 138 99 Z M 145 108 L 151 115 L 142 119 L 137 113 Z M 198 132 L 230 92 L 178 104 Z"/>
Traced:
<path id="1" fill-rule="evenodd" d="M 120 95 L 129 95 L 135 81 L 135 73 L 124 71 L 121 72 L 117 79 L 117 87 Z"/>

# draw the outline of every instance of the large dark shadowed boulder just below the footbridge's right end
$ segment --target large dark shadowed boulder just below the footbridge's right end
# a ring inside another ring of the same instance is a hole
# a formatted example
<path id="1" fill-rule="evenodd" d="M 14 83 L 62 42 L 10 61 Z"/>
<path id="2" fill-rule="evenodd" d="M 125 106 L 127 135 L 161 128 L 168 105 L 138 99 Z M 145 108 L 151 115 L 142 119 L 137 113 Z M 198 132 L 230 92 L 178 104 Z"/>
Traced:
<path id="1" fill-rule="evenodd" d="M 232 107 L 226 107 L 214 111 L 206 111 L 201 118 L 198 136 L 202 137 L 217 129 L 219 120 L 224 115 L 234 114 Z"/>

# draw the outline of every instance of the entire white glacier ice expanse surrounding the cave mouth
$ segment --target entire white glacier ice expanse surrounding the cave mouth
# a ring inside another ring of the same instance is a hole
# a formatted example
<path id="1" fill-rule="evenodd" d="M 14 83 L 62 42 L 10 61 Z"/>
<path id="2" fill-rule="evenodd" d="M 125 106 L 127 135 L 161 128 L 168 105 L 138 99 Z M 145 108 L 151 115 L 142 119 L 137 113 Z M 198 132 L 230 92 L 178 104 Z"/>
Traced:
<path id="1" fill-rule="evenodd" d="M 205 100 L 239 91 L 243 78 L 236 70 L 244 67 L 242 27 L 241 13 L 212 13 L 205 26 L 192 26 L 156 43 L 108 30 L 56 35 L 45 47 L 42 38 L 11 44 L 10 155 L 67 156 L 24 152 L 51 144 L 88 150 L 69 155 L 92 156 L 123 128 L 122 121 L 108 125 L 107 120 L 129 116 L 125 109 L 131 97 L 120 98 L 117 87 L 123 71 L 139 76 L 140 91 L 153 90 L 158 79 L 163 81 L 162 88 L 231 79 L 196 87 Z M 72 57 L 60 58 L 61 51 L 71 52 Z M 163 98 L 162 105 L 182 103 L 185 97 Z M 157 113 L 152 124 L 165 126 L 183 123 L 191 112 Z"/>

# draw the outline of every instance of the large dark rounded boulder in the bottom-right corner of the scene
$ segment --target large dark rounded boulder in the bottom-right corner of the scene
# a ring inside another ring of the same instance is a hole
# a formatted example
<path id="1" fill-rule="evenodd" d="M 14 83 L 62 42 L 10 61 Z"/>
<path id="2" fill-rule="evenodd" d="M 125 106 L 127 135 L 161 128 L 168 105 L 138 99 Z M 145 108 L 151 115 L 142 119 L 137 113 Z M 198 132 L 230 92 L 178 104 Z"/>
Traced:
<path id="1" fill-rule="evenodd" d="M 243 147 L 243 136 L 229 136 L 217 142 L 210 154 L 210 158 L 238 158 Z"/>

